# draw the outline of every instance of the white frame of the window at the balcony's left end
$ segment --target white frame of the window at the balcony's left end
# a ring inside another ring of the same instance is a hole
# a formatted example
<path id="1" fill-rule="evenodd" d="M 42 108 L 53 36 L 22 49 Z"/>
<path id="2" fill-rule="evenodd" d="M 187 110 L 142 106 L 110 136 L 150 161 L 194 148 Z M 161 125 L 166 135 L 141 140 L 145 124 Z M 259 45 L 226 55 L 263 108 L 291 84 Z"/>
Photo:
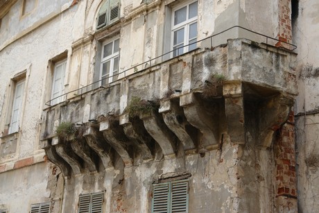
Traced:
<path id="1" fill-rule="evenodd" d="M 60 90 L 55 92 L 55 81 L 57 80 L 57 69 L 58 67 L 62 66 L 62 80 L 59 84 Z M 65 80 L 65 73 L 67 69 L 67 59 L 60 60 L 55 63 L 53 68 L 53 78 L 52 78 L 52 89 L 51 89 L 51 105 L 58 104 L 65 100 L 65 96 L 62 96 L 64 94 L 64 80 Z M 58 95 L 55 95 L 58 94 Z"/>

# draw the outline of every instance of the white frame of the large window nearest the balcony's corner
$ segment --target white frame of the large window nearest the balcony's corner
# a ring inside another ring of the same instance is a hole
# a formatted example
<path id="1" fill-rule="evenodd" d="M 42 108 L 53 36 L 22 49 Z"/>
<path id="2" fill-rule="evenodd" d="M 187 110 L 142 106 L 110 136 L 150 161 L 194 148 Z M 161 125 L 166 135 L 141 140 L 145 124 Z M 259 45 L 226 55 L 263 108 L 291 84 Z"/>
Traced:
<path id="1" fill-rule="evenodd" d="M 196 37 L 192 37 L 191 39 L 189 39 L 189 27 L 191 26 L 191 24 L 195 24 L 197 23 L 197 31 L 198 31 L 198 12 L 197 12 L 197 15 L 195 17 L 191 17 L 191 19 L 189 19 L 189 6 L 192 4 L 192 3 L 195 3 L 197 2 L 198 4 L 198 1 L 188 1 L 187 3 L 183 3 L 182 5 L 178 5 L 174 8 L 172 8 L 172 15 L 171 15 L 171 51 L 174 50 L 175 46 L 180 46 L 182 44 L 182 46 L 184 46 L 184 48 L 182 49 L 182 53 L 179 53 L 178 52 L 178 49 L 177 49 L 177 53 L 175 53 L 175 51 L 173 51 L 171 53 L 171 56 L 175 57 L 175 56 L 179 56 L 179 55 L 182 55 L 183 53 L 187 53 L 188 51 L 191 51 L 192 49 L 189 49 L 189 46 L 185 46 L 185 45 L 188 45 L 188 44 L 191 44 L 193 42 L 190 42 L 190 40 L 196 40 L 197 41 L 197 37 L 198 37 L 198 33 L 196 33 Z M 175 17 L 175 12 L 184 8 L 184 7 L 187 7 L 187 19 L 186 21 L 184 22 L 181 22 L 179 24 L 176 24 L 174 26 L 174 17 Z M 174 32 L 175 31 L 178 31 L 178 30 L 181 30 L 182 28 L 184 28 L 184 40 L 183 40 L 183 43 L 180 43 L 180 44 L 174 44 Z M 179 48 L 181 49 L 181 48 Z"/>

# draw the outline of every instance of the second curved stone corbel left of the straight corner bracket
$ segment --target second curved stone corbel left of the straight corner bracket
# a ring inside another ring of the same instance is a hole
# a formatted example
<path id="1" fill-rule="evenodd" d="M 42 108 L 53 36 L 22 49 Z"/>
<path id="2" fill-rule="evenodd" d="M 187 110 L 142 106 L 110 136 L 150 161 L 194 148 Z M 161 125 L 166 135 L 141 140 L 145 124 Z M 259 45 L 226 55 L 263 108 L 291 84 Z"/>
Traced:
<path id="1" fill-rule="evenodd" d="M 187 119 L 184 118 L 182 108 L 178 103 L 171 100 L 161 102 L 160 113 L 163 114 L 166 126 L 180 139 L 186 154 L 196 153 L 196 144 L 186 131 L 185 124 Z"/>

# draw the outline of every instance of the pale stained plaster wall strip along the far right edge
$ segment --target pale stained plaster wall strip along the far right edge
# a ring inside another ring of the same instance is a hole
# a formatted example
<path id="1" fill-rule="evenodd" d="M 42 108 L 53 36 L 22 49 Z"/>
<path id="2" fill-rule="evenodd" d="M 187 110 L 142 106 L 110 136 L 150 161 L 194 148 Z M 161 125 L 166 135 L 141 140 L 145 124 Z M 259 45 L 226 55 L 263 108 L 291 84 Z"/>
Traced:
<path id="1" fill-rule="evenodd" d="M 295 118 L 300 212 L 316 212 L 319 208 L 318 10 L 318 1 L 300 0 L 298 17 L 292 26 L 293 41 L 298 46 L 299 96 L 294 110 L 300 115 Z"/>

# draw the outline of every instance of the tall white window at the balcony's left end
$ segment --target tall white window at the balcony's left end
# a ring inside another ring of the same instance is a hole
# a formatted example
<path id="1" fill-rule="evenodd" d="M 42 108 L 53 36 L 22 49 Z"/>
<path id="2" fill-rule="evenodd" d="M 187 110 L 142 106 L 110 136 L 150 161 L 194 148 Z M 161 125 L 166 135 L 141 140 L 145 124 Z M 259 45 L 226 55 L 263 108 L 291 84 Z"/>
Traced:
<path id="1" fill-rule="evenodd" d="M 51 90 L 51 105 L 55 105 L 64 101 L 64 76 L 67 67 L 67 60 L 56 62 L 53 70 L 52 90 Z"/>

